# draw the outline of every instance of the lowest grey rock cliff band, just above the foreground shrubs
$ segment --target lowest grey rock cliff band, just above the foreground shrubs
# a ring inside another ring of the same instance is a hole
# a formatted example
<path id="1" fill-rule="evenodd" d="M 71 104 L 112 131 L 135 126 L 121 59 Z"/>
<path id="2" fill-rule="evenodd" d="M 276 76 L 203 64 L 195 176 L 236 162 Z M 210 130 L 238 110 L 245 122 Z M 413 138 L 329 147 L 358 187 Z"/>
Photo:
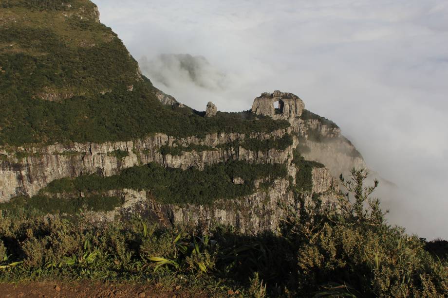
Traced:
<path id="1" fill-rule="evenodd" d="M 313 170 L 314 190 L 322 204 L 336 201 L 336 180 L 325 168 Z M 240 183 L 241 181 L 237 181 Z M 116 216 L 131 217 L 135 213 L 161 224 L 195 224 L 210 228 L 216 224 L 231 225 L 245 234 L 256 234 L 264 230 L 276 230 L 284 214 L 280 205 L 294 205 L 293 193 L 288 179 L 281 178 L 267 191 L 258 191 L 243 198 L 219 200 L 212 205 L 161 204 L 149 192 L 125 189 L 111 191 L 108 195 L 122 196 L 124 204 L 113 211 L 101 212 L 95 221 L 111 221 Z M 310 196 L 307 198 L 311 199 Z"/>

